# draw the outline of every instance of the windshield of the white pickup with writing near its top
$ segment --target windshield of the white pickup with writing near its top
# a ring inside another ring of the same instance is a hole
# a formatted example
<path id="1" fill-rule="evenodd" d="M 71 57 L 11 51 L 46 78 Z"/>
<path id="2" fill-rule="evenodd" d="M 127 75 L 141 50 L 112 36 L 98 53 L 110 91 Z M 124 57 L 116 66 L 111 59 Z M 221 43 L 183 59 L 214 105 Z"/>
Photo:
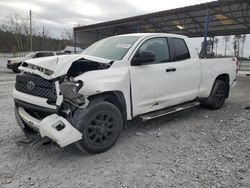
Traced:
<path id="1" fill-rule="evenodd" d="M 114 61 L 121 60 L 139 38 L 138 36 L 114 36 L 102 39 L 88 47 L 83 54 Z"/>

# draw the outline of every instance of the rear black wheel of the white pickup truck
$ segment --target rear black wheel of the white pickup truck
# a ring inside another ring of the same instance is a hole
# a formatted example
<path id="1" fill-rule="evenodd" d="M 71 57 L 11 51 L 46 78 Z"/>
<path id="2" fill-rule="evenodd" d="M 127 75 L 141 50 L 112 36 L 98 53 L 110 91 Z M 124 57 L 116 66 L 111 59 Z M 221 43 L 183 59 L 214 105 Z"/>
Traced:
<path id="1" fill-rule="evenodd" d="M 210 109 L 217 110 L 220 109 L 227 97 L 227 86 L 224 81 L 216 80 L 214 82 L 212 92 L 210 96 L 202 102 L 203 106 Z"/>

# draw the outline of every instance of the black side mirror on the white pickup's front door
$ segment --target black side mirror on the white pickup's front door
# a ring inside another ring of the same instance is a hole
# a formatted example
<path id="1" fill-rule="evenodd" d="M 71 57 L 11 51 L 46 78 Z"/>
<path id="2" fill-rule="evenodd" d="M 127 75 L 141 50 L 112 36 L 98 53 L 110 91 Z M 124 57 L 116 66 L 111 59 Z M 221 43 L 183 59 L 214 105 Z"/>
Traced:
<path id="1" fill-rule="evenodd" d="M 132 59 L 132 65 L 144 65 L 153 61 L 155 61 L 155 54 L 153 52 L 142 51 L 134 56 Z"/>

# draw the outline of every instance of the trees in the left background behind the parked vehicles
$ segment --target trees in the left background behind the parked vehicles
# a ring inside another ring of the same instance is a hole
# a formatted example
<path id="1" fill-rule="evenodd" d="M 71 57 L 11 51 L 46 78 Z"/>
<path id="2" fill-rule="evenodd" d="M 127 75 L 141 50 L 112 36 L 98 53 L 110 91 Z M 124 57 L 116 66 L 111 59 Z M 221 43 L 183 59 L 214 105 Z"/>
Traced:
<path id="1" fill-rule="evenodd" d="M 71 30 L 65 29 L 62 38 L 53 38 L 47 30 L 39 32 L 32 29 L 32 50 L 62 50 L 64 46 L 73 45 Z M 0 26 L 0 53 L 30 51 L 29 21 L 19 15 L 8 16 L 6 24 Z"/>

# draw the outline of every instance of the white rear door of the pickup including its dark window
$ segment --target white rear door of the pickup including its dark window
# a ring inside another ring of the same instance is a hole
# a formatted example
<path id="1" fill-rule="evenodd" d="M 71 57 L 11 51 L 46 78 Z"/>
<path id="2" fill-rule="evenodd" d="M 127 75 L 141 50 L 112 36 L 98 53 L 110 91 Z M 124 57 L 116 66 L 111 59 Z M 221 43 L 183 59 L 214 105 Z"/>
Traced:
<path id="1" fill-rule="evenodd" d="M 168 63 L 169 68 L 174 68 L 172 75 L 172 100 L 175 104 L 191 101 L 198 96 L 201 65 L 196 57 L 191 58 L 188 46 L 182 38 L 168 38 L 171 53 L 174 58 Z"/>

